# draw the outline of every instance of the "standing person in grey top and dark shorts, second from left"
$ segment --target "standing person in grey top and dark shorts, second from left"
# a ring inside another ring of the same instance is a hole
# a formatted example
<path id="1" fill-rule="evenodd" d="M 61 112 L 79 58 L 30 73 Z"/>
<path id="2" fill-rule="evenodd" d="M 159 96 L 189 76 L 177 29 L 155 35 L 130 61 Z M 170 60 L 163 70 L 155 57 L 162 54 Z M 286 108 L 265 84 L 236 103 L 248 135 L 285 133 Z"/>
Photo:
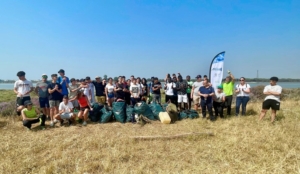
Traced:
<path id="1" fill-rule="evenodd" d="M 43 111 L 43 114 L 46 115 L 47 117 L 50 117 L 50 109 L 49 109 L 49 92 L 48 92 L 48 85 L 49 83 L 47 82 L 48 76 L 46 74 L 42 75 L 42 80 L 37 82 L 36 88 L 35 88 L 35 93 L 38 94 L 39 96 L 39 103 L 40 103 L 40 108 Z"/>

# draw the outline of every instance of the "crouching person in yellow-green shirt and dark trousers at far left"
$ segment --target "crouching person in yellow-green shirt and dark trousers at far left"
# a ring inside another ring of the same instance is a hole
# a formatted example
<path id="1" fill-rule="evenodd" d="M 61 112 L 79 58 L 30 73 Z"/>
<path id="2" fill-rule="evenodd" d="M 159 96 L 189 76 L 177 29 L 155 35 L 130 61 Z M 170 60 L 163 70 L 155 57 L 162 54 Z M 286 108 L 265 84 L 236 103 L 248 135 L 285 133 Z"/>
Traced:
<path id="1" fill-rule="evenodd" d="M 30 100 L 24 102 L 24 109 L 21 111 L 23 126 L 27 127 L 28 130 L 31 130 L 31 125 L 34 123 L 40 123 L 42 130 L 45 129 L 46 116 L 40 115 L 40 111 L 32 105 Z"/>

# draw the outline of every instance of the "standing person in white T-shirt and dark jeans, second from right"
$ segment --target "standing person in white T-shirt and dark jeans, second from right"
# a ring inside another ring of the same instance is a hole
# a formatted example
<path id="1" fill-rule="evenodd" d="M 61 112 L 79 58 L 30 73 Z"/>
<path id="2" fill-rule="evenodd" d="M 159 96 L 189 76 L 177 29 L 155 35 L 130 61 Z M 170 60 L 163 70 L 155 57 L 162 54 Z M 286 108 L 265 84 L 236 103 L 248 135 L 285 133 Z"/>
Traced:
<path id="1" fill-rule="evenodd" d="M 250 85 L 245 83 L 246 79 L 244 77 L 240 78 L 240 84 L 235 87 L 236 96 L 236 107 L 235 115 L 238 116 L 240 113 L 240 106 L 242 105 L 242 115 L 246 115 L 246 106 L 249 101 Z"/>

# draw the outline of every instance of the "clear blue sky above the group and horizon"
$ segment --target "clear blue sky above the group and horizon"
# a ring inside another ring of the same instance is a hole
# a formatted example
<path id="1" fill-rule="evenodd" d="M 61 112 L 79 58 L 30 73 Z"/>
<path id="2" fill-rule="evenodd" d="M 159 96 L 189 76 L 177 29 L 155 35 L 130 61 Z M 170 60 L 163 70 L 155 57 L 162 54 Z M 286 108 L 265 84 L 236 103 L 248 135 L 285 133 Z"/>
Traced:
<path id="1" fill-rule="evenodd" d="M 300 1 L 0 1 L 0 79 L 209 74 L 300 78 Z"/>

